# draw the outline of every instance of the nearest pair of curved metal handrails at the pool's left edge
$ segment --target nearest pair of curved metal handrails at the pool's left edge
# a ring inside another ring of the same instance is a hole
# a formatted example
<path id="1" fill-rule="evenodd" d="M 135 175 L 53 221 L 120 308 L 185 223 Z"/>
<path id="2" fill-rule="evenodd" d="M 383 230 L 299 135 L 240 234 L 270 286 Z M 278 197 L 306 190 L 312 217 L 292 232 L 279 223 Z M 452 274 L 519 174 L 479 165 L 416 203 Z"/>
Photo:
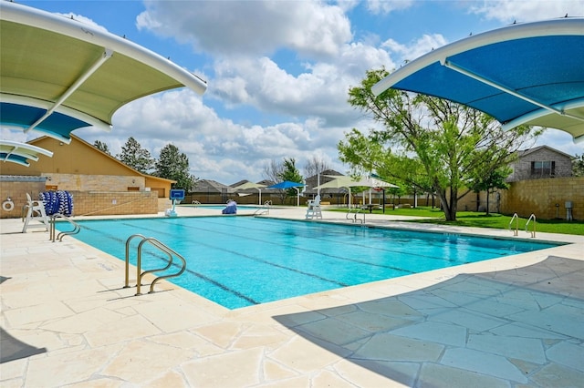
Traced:
<path id="1" fill-rule="evenodd" d="M 184 260 L 183 256 L 181 256 L 180 254 L 178 254 L 174 250 L 171 250 L 166 245 L 162 244 L 161 241 L 156 240 L 153 237 L 144 237 L 141 234 L 132 234 L 128 238 L 128 240 L 126 240 L 126 284 L 124 285 L 125 289 L 130 288 L 130 241 L 135 239 L 135 238 L 141 239 L 140 243 L 138 244 L 138 259 L 136 261 L 136 296 L 141 295 L 142 277 L 144 275 L 146 275 L 147 273 L 166 271 L 169 268 L 171 268 L 173 256 L 176 256 L 177 258 L 179 258 L 183 261 L 183 267 L 181 268 L 181 271 L 178 271 L 176 273 L 172 273 L 170 275 L 162 275 L 162 276 L 159 276 L 158 278 L 154 279 L 151 282 L 150 292 L 148 292 L 148 293 L 154 292 L 154 284 L 156 284 L 158 281 L 162 281 L 162 279 L 175 278 L 177 276 L 182 275 L 183 272 L 186 270 L 186 260 Z M 153 247 L 157 248 L 158 250 L 161 250 L 162 252 L 164 252 L 168 255 L 168 264 L 166 265 L 166 267 L 159 268 L 156 270 L 149 270 L 149 271 L 143 271 L 143 272 L 141 271 L 142 247 L 147 242 L 149 244 L 151 244 Z"/>

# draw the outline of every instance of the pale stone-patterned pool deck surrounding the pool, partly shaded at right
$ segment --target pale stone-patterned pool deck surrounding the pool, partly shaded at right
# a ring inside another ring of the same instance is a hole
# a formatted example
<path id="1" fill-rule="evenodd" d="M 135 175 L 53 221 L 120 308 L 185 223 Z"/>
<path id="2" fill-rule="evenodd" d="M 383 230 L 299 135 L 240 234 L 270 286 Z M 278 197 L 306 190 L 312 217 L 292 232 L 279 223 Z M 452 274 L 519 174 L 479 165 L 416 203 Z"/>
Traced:
<path id="1" fill-rule="evenodd" d="M 136 297 L 121 260 L 21 230 L 0 220 L 3 388 L 584 386 L 584 236 L 537 232 L 570 244 L 229 311 L 164 281 Z"/>

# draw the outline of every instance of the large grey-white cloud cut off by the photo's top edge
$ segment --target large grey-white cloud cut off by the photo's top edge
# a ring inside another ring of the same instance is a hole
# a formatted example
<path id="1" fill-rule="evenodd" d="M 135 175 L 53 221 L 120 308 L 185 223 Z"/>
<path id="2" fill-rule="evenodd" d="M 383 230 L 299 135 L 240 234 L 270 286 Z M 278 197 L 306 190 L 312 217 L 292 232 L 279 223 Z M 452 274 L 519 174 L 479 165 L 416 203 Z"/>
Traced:
<path id="1" fill-rule="evenodd" d="M 221 56 L 266 55 L 288 48 L 326 57 L 350 41 L 350 23 L 336 5 L 308 1 L 148 1 L 139 29 L 172 36 Z"/>

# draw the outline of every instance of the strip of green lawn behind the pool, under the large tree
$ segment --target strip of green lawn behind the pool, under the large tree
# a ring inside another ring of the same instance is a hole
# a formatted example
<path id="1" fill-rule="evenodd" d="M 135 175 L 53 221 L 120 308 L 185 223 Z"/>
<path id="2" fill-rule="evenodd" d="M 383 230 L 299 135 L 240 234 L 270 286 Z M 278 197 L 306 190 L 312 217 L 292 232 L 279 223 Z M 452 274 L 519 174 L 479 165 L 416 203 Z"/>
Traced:
<path id="1" fill-rule="evenodd" d="M 334 209 L 334 211 L 347 211 L 347 209 Z M 382 210 L 373 210 L 373 214 L 383 214 Z M 486 215 L 484 212 L 478 213 L 474 211 L 459 211 L 456 213 L 456 221 L 447 222 L 444 219 L 444 213 L 440 209 L 432 209 L 420 207 L 416 209 L 394 209 L 386 208 L 385 214 L 394 214 L 400 216 L 418 216 L 429 217 L 431 220 L 412 220 L 410 222 L 433 223 L 443 225 L 457 225 L 464 227 L 478 227 L 478 228 L 495 228 L 495 229 L 509 229 L 509 222 L 511 216 L 503 214 L 491 213 Z M 526 229 L 527 219 L 519 219 L 519 230 Z M 513 228 L 515 228 L 516 221 L 513 221 Z M 529 227 L 531 230 L 531 226 Z M 549 233 L 562 234 L 577 234 L 584 236 L 584 221 L 566 220 L 537 220 L 537 231 L 544 231 Z"/>

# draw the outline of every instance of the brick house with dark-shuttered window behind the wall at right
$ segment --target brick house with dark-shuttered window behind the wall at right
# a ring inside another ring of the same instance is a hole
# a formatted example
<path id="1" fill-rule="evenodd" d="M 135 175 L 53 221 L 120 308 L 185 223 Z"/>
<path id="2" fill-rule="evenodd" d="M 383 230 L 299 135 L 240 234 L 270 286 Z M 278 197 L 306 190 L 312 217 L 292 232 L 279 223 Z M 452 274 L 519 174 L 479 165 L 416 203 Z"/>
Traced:
<path id="1" fill-rule="evenodd" d="M 513 172 L 506 180 L 516 182 L 528 179 L 571 177 L 572 158 L 558 149 L 547 146 L 518 151 L 516 161 L 510 166 Z"/>

